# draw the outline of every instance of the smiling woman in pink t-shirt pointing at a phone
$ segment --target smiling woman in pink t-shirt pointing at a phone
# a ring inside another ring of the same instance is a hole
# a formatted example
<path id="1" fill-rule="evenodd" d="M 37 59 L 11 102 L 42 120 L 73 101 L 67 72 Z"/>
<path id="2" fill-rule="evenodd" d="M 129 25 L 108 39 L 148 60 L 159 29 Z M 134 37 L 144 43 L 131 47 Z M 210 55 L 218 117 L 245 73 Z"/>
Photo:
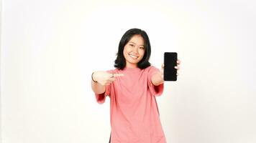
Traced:
<path id="1" fill-rule="evenodd" d="M 110 98 L 112 143 L 165 143 L 155 97 L 163 93 L 163 66 L 150 66 L 150 39 L 129 29 L 119 42 L 114 66 L 94 71 L 91 87 L 99 104 Z M 179 69 L 180 61 L 177 61 Z"/>

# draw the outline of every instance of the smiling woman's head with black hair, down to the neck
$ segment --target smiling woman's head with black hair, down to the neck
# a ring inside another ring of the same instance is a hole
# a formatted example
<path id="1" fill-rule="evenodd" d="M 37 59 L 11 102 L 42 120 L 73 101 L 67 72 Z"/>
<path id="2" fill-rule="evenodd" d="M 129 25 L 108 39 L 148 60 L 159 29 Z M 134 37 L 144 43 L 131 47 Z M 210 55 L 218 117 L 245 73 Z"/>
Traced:
<path id="1" fill-rule="evenodd" d="M 118 69 L 124 69 L 125 66 L 145 69 L 150 66 L 150 54 L 151 46 L 147 33 L 140 29 L 129 29 L 119 43 L 114 66 Z"/>

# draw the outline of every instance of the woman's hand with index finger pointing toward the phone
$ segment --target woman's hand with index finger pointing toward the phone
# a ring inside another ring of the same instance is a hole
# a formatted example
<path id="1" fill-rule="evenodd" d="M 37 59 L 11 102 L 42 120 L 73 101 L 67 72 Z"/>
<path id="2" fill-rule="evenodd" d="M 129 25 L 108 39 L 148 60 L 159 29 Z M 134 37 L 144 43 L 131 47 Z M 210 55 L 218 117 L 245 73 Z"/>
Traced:
<path id="1" fill-rule="evenodd" d="M 122 77 L 124 74 L 110 74 L 106 71 L 93 72 L 93 80 L 99 82 L 99 84 L 105 86 L 109 85 L 116 80 L 116 77 Z"/>

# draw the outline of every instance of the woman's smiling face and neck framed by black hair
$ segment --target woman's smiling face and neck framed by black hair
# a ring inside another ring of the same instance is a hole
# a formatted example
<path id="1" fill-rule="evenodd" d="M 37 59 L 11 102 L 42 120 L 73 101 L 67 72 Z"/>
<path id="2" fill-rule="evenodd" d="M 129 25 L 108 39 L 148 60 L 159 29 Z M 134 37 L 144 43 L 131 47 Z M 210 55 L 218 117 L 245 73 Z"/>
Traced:
<path id="1" fill-rule="evenodd" d="M 137 67 L 137 63 L 145 54 L 144 39 L 140 35 L 134 35 L 124 46 L 124 58 L 126 66 L 130 68 Z"/>

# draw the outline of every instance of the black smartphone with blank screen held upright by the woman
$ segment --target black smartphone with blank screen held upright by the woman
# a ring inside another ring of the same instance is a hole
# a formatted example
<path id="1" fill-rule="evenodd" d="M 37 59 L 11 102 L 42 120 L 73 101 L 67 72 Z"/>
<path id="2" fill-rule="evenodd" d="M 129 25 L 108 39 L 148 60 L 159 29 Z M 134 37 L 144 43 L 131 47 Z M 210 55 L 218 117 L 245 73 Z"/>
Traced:
<path id="1" fill-rule="evenodd" d="M 163 79 L 165 81 L 177 81 L 177 53 L 176 52 L 165 52 L 164 53 L 164 68 L 163 68 Z"/>

